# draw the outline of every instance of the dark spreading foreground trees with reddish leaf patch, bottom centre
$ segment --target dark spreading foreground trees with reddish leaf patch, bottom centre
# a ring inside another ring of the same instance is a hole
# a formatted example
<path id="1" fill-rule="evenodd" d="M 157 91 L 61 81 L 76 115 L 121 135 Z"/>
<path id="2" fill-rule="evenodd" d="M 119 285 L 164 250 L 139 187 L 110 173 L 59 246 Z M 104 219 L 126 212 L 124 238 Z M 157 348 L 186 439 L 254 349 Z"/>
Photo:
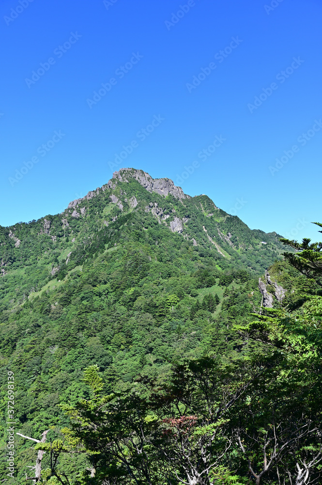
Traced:
<path id="1" fill-rule="evenodd" d="M 117 476 L 123 484 L 209 485 L 232 444 L 228 411 L 258 372 L 205 356 L 173 365 L 165 382 L 140 377 L 134 389 L 102 396 L 98 371 L 88 368 L 93 398 L 65 409 L 95 457 L 92 483 Z"/>

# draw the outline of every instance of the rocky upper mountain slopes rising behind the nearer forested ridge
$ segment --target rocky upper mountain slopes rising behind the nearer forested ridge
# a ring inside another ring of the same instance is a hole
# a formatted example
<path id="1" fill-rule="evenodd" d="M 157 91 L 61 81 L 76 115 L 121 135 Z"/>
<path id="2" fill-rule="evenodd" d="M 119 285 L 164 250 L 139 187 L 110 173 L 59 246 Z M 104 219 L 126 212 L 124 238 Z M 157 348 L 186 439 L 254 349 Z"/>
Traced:
<path id="1" fill-rule="evenodd" d="M 0 291 L 7 301 L 25 300 L 50 279 L 63 279 L 86 259 L 122 242 L 134 221 L 139 231 L 157 222 L 194 247 L 212 251 L 215 260 L 253 272 L 263 272 L 283 247 L 276 233 L 250 230 L 206 195 L 190 197 L 170 179 L 127 168 L 61 214 L 0 227 Z"/>

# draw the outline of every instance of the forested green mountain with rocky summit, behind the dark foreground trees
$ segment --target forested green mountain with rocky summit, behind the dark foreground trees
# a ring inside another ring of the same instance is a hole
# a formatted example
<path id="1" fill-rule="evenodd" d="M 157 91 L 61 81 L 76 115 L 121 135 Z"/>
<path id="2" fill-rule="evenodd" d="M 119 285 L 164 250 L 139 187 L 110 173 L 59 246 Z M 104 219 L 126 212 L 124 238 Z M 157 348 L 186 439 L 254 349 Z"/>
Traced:
<path id="1" fill-rule="evenodd" d="M 60 404 L 89 396 L 92 363 L 111 391 L 209 349 L 250 352 L 256 343 L 231 326 L 261 305 L 259 276 L 282 251 L 276 233 L 131 168 L 61 214 L 0 227 L 0 375 L 15 375 L 16 430 L 38 437 L 52 426 L 54 439 L 68 424 Z M 16 439 L 23 479 L 35 453 Z M 76 474 L 84 460 L 64 467 Z"/>

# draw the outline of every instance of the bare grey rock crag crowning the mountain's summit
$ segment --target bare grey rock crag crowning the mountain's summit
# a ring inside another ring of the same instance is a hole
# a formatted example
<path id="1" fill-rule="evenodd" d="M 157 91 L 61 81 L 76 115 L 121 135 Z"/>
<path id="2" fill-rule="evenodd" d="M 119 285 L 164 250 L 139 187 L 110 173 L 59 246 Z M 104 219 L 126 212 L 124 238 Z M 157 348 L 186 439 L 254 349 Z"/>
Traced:
<path id="1" fill-rule="evenodd" d="M 121 182 L 129 182 L 131 178 L 135 178 L 148 192 L 156 192 L 164 197 L 171 194 L 179 200 L 190 198 L 189 195 L 184 194 L 181 187 L 174 185 L 170 178 L 152 178 L 151 175 L 143 172 L 143 170 L 122 168 L 118 172 L 113 173 L 113 178 Z"/>

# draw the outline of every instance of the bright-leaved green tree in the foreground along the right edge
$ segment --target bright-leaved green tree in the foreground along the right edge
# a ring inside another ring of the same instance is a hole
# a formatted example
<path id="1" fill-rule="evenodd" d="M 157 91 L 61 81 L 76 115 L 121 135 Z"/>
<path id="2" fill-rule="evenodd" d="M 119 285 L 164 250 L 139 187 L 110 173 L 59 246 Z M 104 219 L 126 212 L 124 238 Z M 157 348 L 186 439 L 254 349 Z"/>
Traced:
<path id="1" fill-rule="evenodd" d="M 300 250 L 285 254 L 291 265 L 319 282 L 322 243 L 283 242 Z M 266 345 L 271 368 L 256 388 L 249 389 L 235 421 L 247 468 L 257 485 L 266 476 L 279 484 L 286 479 L 292 485 L 320 484 L 322 297 L 308 296 L 295 312 L 265 308 L 253 317 L 235 328 Z"/>

